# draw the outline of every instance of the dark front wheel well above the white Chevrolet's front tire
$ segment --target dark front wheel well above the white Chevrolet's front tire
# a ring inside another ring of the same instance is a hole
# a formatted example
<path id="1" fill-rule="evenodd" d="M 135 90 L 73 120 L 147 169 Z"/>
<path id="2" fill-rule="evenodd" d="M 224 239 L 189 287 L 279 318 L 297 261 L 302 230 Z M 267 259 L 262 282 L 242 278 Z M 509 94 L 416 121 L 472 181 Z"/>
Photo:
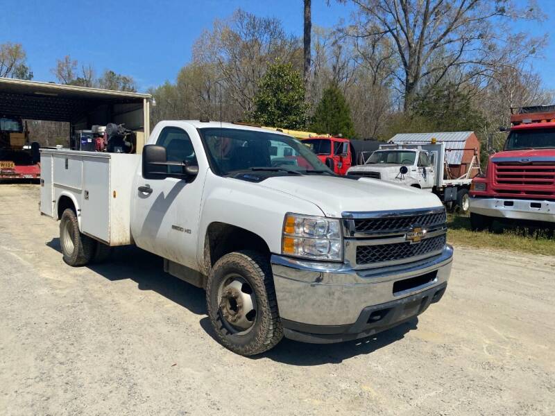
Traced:
<path id="1" fill-rule="evenodd" d="M 253 250 L 270 256 L 270 248 L 261 236 L 235 225 L 212 223 L 206 230 L 204 244 L 204 267 L 210 268 L 225 254 L 238 250 Z"/>

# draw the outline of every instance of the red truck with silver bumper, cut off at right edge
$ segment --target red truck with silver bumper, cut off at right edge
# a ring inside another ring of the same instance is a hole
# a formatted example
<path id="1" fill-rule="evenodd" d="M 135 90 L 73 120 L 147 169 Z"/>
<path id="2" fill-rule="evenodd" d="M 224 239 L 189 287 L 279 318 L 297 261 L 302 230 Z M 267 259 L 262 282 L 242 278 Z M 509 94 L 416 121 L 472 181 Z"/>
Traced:
<path id="1" fill-rule="evenodd" d="M 494 218 L 555 223 L 555 105 L 512 110 L 504 149 L 470 189 L 473 229 Z"/>

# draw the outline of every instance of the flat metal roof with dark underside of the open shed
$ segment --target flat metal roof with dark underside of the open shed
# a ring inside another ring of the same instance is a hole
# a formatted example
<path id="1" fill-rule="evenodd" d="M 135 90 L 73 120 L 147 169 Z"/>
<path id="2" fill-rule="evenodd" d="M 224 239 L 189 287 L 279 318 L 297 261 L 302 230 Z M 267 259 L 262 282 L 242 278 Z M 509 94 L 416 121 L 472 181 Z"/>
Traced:
<path id="1" fill-rule="evenodd" d="M 142 139 L 137 134 L 137 145 L 150 134 L 150 100 L 150 94 L 0 78 L 0 116 L 64 121 L 73 130 L 125 123 L 144 133 Z"/>

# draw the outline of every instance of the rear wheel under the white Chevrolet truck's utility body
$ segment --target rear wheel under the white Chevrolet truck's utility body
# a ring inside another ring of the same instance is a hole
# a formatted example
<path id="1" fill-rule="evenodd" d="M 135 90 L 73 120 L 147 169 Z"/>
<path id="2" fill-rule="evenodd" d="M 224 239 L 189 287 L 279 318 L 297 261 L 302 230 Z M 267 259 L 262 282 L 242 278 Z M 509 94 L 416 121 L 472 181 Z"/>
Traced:
<path id="1" fill-rule="evenodd" d="M 79 231 L 75 212 L 67 208 L 60 220 L 60 245 L 64 261 L 73 267 L 85 266 L 94 255 L 95 243 Z"/>

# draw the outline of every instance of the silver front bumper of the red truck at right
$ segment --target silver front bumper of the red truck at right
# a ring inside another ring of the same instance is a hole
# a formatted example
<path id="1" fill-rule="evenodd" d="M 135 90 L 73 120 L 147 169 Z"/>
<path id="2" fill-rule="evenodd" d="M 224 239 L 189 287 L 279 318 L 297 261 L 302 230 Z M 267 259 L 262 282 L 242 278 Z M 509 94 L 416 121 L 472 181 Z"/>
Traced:
<path id="1" fill-rule="evenodd" d="M 496 218 L 555 223 L 555 201 L 470 198 L 470 212 Z"/>

